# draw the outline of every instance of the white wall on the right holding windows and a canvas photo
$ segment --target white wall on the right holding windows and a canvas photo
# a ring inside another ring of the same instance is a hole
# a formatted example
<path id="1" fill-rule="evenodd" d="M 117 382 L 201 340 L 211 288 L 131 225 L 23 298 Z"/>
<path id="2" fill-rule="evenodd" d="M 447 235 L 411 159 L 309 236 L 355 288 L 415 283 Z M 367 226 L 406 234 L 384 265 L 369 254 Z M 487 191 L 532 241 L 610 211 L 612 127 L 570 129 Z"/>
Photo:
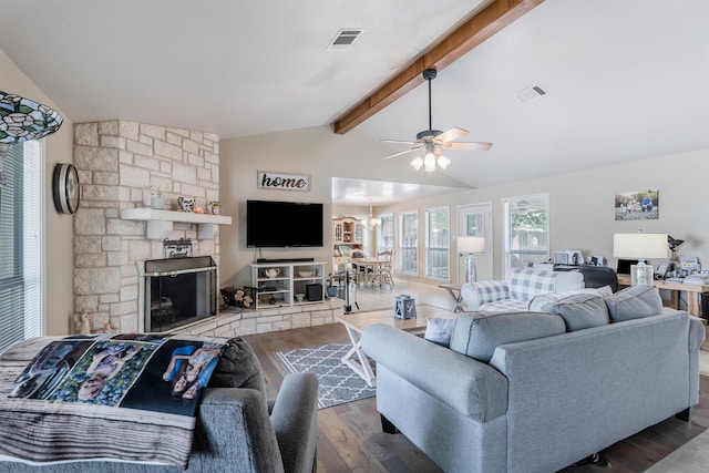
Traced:
<path id="1" fill-rule="evenodd" d="M 620 192 L 659 189 L 659 219 L 616 222 L 614 197 Z M 549 248 L 580 249 L 584 255 L 603 255 L 615 267 L 613 234 L 667 233 L 685 239 L 678 255 L 698 256 L 709 269 L 709 150 L 681 153 L 603 167 L 583 173 L 549 176 L 495 187 L 455 193 L 436 198 L 381 207 L 383 212 L 451 206 L 451 222 L 458 225 L 455 208 L 461 204 L 493 203 L 494 275 L 503 276 L 502 199 L 537 193 L 549 194 Z M 458 234 L 458 228 L 452 229 Z M 454 248 L 454 245 L 451 244 Z M 455 265 L 453 258 L 452 264 Z M 657 264 L 657 261 L 653 261 Z M 451 274 L 456 274 L 455 267 Z"/>

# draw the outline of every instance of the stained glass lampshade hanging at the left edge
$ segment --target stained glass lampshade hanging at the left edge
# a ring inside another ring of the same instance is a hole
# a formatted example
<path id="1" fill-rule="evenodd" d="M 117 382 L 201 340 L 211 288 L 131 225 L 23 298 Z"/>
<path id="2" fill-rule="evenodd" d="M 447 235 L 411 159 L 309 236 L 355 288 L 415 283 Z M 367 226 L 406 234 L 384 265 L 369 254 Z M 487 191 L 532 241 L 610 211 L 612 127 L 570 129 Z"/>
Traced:
<path id="1" fill-rule="evenodd" d="M 7 179 L 2 161 L 10 147 L 51 135 L 62 121 L 62 115 L 47 105 L 0 91 L 0 185 Z"/>

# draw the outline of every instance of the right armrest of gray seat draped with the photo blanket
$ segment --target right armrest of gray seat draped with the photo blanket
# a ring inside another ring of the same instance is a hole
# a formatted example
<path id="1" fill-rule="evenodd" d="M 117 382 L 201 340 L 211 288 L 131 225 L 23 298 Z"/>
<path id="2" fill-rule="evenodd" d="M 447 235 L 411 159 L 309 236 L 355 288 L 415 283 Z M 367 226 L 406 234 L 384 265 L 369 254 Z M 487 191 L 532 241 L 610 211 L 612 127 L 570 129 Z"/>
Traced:
<path id="1" fill-rule="evenodd" d="M 318 378 L 306 372 L 284 378 L 270 415 L 288 472 L 312 472 L 318 432 Z"/>

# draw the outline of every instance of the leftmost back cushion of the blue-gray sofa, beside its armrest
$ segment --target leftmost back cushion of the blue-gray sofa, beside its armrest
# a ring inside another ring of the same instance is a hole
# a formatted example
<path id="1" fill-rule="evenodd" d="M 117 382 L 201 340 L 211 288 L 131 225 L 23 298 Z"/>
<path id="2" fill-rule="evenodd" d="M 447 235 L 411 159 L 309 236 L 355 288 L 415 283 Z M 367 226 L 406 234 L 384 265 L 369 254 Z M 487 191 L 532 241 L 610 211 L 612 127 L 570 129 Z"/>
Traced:
<path id="1" fill-rule="evenodd" d="M 566 332 L 564 319 L 549 312 L 463 312 L 455 318 L 451 350 L 487 362 L 495 348 Z"/>

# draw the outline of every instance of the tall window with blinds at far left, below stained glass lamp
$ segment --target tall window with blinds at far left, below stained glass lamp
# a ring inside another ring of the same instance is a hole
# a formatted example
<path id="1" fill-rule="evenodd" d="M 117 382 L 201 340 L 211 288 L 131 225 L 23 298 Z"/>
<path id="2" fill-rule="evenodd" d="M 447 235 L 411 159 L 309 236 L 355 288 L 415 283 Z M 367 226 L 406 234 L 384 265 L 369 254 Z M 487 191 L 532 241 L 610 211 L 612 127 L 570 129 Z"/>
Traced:
<path id="1" fill-rule="evenodd" d="M 41 143 L 10 148 L 0 186 L 0 352 L 42 335 Z"/>

